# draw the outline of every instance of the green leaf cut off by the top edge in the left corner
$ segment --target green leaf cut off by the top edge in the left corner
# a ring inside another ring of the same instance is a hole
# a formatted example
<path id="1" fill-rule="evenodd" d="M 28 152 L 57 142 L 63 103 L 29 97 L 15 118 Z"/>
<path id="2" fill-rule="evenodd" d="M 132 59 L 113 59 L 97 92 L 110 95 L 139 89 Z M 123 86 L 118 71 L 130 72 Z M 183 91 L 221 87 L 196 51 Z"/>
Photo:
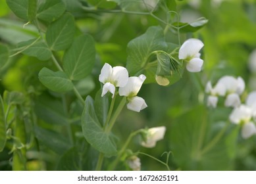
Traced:
<path id="1" fill-rule="evenodd" d="M 28 0 L 7 0 L 6 2 L 18 18 L 28 20 Z"/>

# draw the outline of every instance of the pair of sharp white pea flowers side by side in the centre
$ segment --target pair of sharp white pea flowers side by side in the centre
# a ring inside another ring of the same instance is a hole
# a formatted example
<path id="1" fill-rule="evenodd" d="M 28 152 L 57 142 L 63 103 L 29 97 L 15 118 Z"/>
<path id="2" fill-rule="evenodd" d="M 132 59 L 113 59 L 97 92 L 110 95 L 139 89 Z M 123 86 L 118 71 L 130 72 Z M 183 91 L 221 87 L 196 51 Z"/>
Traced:
<path id="1" fill-rule="evenodd" d="M 146 77 L 143 74 L 139 77 L 129 78 L 126 68 L 122 66 L 112 68 L 110 64 L 105 63 L 99 75 L 99 81 L 104 84 L 101 97 L 110 92 L 112 93 L 112 98 L 114 98 L 116 87 L 119 87 L 119 95 L 127 97 L 127 108 L 140 112 L 140 110 L 147 107 L 144 99 L 137 96 L 145 79 Z"/>

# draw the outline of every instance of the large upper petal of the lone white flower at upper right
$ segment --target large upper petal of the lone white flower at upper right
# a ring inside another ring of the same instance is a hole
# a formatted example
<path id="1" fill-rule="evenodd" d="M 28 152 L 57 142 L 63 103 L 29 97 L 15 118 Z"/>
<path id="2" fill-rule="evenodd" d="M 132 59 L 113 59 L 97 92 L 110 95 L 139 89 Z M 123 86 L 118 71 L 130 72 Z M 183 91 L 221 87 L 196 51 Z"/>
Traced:
<path id="1" fill-rule="evenodd" d="M 178 57 L 180 59 L 198 57 L 198 53 L 202 47 L 203 42 L 201 40 L 194 38 L 188 39 L 182 44 L 182 47 L 180 47 Z"/>

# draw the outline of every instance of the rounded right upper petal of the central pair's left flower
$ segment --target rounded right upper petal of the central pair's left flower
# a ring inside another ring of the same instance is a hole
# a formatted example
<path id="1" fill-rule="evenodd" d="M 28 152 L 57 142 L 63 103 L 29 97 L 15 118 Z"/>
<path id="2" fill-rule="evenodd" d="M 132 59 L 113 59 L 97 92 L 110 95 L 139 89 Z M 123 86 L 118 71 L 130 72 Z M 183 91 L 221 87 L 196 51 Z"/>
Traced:
<path id="1" fill-rule="evenodd" d="M 113 68 L 113 73 L 111 76 L 111 81 L 113 81 L 116 87 L 124 87 L 128 81 L 128 71 L 122 66 L 115 66 Z"/>

